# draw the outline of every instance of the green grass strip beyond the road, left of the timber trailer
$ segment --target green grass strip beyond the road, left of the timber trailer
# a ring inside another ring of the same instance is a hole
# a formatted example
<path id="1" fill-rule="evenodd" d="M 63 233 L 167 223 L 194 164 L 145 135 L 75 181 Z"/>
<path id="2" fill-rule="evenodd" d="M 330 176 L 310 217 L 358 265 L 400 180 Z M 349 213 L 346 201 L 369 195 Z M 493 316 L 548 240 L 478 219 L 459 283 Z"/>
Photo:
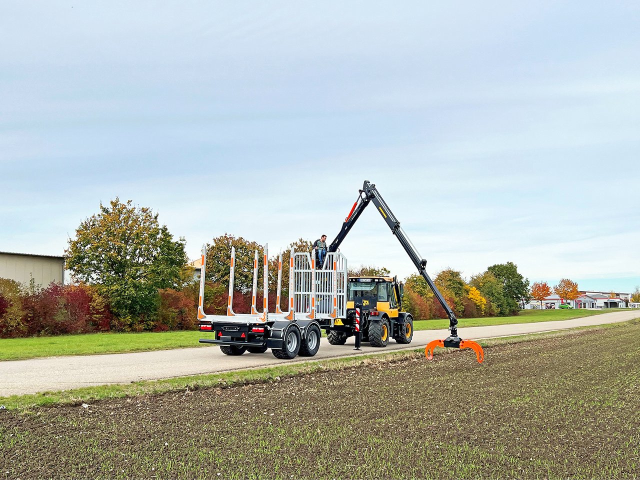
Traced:
<path id="1" fill-rule="evenodd" d="M 168 350 L 207 346 L 198 343 L 197 331 L 147 333 L 89 333 L 57 337 L 1 339 L 0 360 L 20 360 L 58 355 L 95 355 L 132 351 Z"/>

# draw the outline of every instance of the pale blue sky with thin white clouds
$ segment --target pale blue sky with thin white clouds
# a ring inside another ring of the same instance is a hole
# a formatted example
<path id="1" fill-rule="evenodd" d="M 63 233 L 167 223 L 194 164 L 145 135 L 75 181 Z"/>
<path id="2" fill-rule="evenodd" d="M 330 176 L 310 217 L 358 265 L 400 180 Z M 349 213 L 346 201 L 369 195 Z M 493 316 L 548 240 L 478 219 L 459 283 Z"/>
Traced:
<path id="1" fill-rule="evenodd" d="M 640 285 L 637 1 L 0 4 L 0 251 L 63 255 L 100 202 L 195 259 L 329 241 L 364 180 L 428 271 Z M 415 268 L 375 209 L 349 265 Z"/>

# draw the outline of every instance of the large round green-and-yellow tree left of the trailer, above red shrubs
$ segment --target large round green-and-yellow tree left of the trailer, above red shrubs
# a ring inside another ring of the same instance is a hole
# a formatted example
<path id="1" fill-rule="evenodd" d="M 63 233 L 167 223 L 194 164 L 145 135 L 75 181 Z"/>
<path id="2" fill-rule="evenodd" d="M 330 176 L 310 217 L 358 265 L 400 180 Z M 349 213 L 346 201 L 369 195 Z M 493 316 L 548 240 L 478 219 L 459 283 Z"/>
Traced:
<path id="1" fill-rule="evenodd" d="M 140 321 L 154 316 L 158 289 L 186 280 L 184 239 L 173 240 L 157 213 L 131 200 L 100 203 L 100 212 L 84 220 L 76 238 L 69 239 L 65 254 L 74 278 L 95 284 L 125 329 L 140 330 Z"/>

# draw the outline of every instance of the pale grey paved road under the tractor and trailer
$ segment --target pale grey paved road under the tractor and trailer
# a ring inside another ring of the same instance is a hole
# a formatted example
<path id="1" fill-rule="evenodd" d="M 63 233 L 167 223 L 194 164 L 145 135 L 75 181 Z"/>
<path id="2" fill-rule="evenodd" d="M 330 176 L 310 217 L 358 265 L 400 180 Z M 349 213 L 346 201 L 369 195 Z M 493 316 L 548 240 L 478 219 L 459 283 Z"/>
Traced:
<path id="1" fill-rule="evenodd" d="M 640 312 L 612 312 L 564 321 L 462 328 L 460 335 L 465 339 L 488 339 L 522 333 L 563 330 L 576 326 L 623 322 L 637 317 L 640 317 Z M 448 333 L 448 330 L 422 330 L 414 333 L 410 346 L 399 345 L 392 340 L 384 351 L 425 346 L 431 340 L 444 339 Z M 344 346 L 332 346 L 328 344 L 326 339 L 322 340 L 320 350 L 314 359 L 364 355 L 383 351 L 379 348 L 372 348 L 369 344 L 363 344 L 362 352 L 353 351 L 353 339 L 350 339 L 350 342 Z M 469 352 L 469 356 L 470 360 L 475 358 L 472 352 Z M 305 358 L 298 361 L 306 362 L 308 360 Z M 245 353 L 242 356 L 225 356 L 215 346 L 140 353 L 12 360 L 0 362 L 0 396 L 223 372 L 282 362 L 287 362 L 287 360 L 276 359 L 271 355 L 271 351 L 262 355 Z"/>

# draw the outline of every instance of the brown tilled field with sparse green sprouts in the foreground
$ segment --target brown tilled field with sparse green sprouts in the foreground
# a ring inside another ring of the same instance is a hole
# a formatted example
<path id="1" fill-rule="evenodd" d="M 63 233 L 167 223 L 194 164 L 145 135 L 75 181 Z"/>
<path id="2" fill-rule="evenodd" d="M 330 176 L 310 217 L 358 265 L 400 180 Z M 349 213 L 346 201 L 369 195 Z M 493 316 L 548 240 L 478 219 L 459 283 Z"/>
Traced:
<path id="1" fill-rule="evenodd" d="M 272 383 L 0 411 L 0 478 L 635 478 L 640 323 Z"/>

